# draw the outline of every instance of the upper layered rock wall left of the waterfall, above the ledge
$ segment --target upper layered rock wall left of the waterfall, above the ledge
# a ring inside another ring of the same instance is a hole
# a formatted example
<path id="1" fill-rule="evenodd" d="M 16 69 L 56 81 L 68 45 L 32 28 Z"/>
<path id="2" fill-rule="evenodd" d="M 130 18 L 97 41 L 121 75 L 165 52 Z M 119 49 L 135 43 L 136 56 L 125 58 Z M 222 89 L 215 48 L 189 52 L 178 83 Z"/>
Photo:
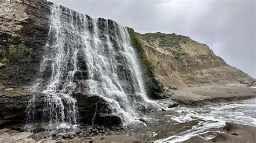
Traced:
<path id="1" fill-rule="evenodd" d="M 50 6 L 46 1 L 1 2 L 0 44 L 2 49 L 17 45 L 21 40 L 33 49 L 32 60 L 27 63 L 26 54 L 9 55 L 8 66 L 0 72 L 1 86 L 31 85 L 38 75 L 39 64 L 49 32 Z M 0 55 L 2 60 L 2 55 Z M 2 85 L 1 85 L 2 84 Z"/>

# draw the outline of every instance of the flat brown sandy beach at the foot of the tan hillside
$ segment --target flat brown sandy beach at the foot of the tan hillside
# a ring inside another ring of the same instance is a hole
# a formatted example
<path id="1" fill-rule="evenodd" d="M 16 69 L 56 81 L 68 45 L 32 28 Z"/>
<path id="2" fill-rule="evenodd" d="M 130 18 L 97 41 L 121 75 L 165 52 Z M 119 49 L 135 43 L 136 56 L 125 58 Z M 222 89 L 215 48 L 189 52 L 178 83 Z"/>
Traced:
<path id="1" fill-rule="evenodd" d="M 256 98 L 256 88 L 240 83 L 189 85 L 173 92 L 172 101 L 191 106 Z"/>

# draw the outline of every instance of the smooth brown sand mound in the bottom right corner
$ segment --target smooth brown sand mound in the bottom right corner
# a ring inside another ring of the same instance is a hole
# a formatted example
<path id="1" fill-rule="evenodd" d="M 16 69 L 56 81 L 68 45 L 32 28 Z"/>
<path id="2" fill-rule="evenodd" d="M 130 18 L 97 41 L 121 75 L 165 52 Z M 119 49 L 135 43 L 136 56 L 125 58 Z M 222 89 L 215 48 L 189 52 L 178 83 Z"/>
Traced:
<path id="1" fill-rule="evenodd" d="M 237 123 L 226 123 L 225 133 L 220 133 L 211 140 L 204 140 L 199 136 L 183 142 L 256 142 L 256 127 Z"/>

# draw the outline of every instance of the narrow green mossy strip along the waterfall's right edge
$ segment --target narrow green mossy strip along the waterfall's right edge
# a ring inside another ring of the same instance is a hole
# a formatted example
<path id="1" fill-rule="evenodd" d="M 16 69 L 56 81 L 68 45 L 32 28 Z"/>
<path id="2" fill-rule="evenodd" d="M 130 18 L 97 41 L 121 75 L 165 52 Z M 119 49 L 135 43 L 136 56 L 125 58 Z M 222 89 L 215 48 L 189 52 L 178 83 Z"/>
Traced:
<path id="1" fill-rule="evenodd" d="M 138 35 L 134 32 L 133 28 L 130 27 L 126 27 L 127 31 L 130 34 L 130 38 L 131 38 L 131 43 L 134 47 L 138 48 L 140 55 L 142 56 L 142 59 L 145 61 L 146 66 L 149 69 L 153 69 L 154 68 L 154 64 L 153 62 L 147 57 L 146 52 L 144 50 L 144 48 L 142 47 L 142 44 L 139 40 Z"/>

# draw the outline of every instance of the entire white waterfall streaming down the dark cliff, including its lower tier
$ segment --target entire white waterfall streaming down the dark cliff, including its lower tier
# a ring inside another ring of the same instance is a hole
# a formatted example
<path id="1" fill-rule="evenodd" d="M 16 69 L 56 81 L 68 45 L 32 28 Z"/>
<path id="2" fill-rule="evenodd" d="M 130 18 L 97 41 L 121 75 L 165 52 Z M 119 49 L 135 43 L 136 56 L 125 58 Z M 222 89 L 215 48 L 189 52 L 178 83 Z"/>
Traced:
<path id="1" fill-rule="evenodd" d="M 43 117 L 47 123 L 76 124 L 78 109 L 72 94 L 81 90 L 103 97 L 124 121 L 136 118 L 139 106 L 154 106 L 146 96 L 138 54 L 124 26 L 56 4 L 50 21 L 35 83 L 35 90 L 46 95 Z M 26 110 L 30 122 L 35 118 L 33 104 L 35 97 Z"/>

